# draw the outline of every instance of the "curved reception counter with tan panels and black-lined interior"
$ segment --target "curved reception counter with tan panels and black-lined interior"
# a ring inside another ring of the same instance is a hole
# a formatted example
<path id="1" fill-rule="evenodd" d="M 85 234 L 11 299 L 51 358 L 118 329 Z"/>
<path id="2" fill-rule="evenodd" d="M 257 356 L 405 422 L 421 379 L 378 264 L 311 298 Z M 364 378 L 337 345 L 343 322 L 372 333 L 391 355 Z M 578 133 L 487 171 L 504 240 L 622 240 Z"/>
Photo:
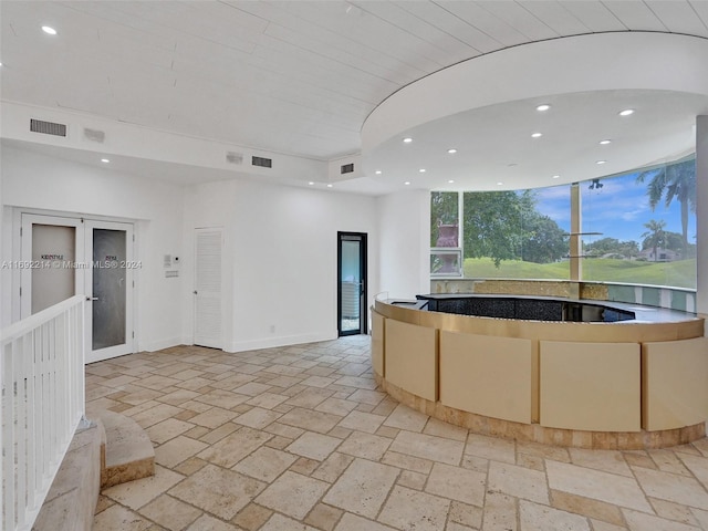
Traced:
<path id="1" fill-rule="evenodd" d="M 694 314 L 510 295 L 376 301 L 372 364 L 384 389 L 499 437 L 645 449 L 705 436 L 708 337 Z"/>

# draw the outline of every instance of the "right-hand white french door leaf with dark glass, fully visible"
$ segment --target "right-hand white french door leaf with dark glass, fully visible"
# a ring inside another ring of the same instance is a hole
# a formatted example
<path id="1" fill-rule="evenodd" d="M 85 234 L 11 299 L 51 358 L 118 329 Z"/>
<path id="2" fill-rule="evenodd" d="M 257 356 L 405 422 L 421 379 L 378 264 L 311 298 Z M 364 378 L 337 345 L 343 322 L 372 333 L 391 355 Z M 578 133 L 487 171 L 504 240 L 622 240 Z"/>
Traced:
<path id="1" fill-rule="evenodd" d="M 139 266 L 133 257 L 133 226 L 86 220 L 84 292 L 88 302 L 86 327 L 91 344 L 86 362 L 133 352 L 133 275 Z"/>

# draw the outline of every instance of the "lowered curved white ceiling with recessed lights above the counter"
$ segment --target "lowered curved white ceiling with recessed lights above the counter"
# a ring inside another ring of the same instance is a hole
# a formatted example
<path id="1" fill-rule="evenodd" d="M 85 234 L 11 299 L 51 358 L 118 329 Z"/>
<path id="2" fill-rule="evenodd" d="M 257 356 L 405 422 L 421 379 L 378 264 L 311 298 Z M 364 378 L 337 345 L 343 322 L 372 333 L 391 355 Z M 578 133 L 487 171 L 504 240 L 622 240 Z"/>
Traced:
<path id="1" fill-rule="evenodd" d="M 539 103 L 550 104 L 551 110 L 539 113 Z M 626 108 L 636 113 L 620 117 L 617 112 Z M 413 143 L 394 138 L 371 158 L 376 169 L 382 168 L 382 180 L 425 184 L 436 190 L 554 186 L 689 155 L 696 142 L 695 116 L 706 112 L 707 96 L 665 91 L 595 91 L 519 100 L 409 129 Z M 534 138 L 533 133 L 542 136 Z M 611 143 L 600 144 L 606 139 Z M 415 149 L 417 144 L 425 149 Z M 448 154 L 448 148 L 457 153 Z M 421 168 L 426 171 L 420 173 Z"/>

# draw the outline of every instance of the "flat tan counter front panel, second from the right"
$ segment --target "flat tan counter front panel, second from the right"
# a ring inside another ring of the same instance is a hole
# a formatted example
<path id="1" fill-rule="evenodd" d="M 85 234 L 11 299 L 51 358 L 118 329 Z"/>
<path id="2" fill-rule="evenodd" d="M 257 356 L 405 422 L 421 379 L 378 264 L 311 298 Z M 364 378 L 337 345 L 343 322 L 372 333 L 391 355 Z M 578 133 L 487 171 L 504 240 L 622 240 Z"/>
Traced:
<path id="1" fill-rule="evenodd" d="M 541 341 L 541 426 L 639 431 L 638 343 Z"/>

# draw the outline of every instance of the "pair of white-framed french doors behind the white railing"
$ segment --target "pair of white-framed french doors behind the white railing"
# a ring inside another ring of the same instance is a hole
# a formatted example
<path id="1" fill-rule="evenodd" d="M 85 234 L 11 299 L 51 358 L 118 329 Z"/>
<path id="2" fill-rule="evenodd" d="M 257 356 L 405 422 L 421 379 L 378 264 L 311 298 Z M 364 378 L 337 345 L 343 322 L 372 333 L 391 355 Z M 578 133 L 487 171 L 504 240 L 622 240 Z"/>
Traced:
<path id="1" fill-rule="evenodd" d="M 134 350 L 133 225 L 22 214 L 22 319 L 86 295 L 86 363 Z"/>

